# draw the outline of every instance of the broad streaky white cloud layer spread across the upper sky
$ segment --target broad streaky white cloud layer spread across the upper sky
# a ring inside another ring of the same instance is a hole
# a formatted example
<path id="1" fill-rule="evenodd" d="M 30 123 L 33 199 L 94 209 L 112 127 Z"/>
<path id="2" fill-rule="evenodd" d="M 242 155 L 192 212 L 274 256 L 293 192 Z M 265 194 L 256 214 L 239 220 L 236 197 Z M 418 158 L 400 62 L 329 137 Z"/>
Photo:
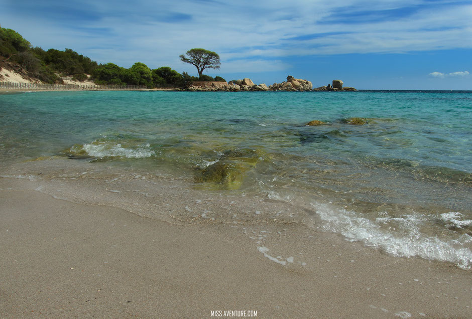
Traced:
<path id="1" fill-rule="evenodd" d="M 7 2 L 2 25 L 20 19 L 37 45 L 103 61 L 120 54 L 129 63 L 151 55 L 176 62 L 203 47 L 230 62 L 472 48 L 463 40 L 472 38 L 470 17 L 472 4 L 453 0 L 25 0 Z"/>

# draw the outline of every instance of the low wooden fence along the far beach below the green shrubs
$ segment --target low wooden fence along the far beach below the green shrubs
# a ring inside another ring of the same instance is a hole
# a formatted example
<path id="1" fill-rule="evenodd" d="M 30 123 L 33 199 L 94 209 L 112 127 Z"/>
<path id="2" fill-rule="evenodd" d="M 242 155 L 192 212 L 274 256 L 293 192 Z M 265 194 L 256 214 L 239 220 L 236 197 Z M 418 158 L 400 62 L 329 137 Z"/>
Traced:
<path id="1" fill-rule="evenodd" d="M 44 84 L 0 82 L 0 89 L 8 90 L 44 90 L 44 91 L 111 91 L 143 90 L 144 85 L 82 85 L 82 84 Z"/>

